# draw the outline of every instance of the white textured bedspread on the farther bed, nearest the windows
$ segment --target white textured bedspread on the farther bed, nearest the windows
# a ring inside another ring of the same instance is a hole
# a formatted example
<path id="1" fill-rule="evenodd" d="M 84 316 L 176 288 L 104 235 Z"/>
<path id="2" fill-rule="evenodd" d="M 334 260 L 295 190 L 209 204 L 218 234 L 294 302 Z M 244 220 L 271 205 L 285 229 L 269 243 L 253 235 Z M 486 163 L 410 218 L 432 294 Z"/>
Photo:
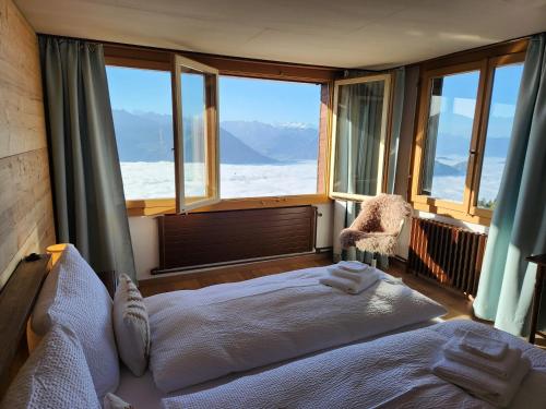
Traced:
<path id="1" fill-rule="evenodd" d="M 358 296 L 319 284 L 325 274 L 307 268 L 145 299 L 157 387 L 173 392 L 446 312 L 384 273 Z"/>

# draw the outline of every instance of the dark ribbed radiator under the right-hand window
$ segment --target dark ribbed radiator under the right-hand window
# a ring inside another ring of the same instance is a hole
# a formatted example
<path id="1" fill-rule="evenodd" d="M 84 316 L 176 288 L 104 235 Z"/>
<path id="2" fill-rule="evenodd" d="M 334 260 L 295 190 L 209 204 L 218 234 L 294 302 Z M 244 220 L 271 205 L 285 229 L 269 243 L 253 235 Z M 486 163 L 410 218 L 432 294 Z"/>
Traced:
<path id="1" fill-rule="evenodd" d="M 408 268 L 467 296 L 476 296 L 487 234 L 413 218 Z"/>

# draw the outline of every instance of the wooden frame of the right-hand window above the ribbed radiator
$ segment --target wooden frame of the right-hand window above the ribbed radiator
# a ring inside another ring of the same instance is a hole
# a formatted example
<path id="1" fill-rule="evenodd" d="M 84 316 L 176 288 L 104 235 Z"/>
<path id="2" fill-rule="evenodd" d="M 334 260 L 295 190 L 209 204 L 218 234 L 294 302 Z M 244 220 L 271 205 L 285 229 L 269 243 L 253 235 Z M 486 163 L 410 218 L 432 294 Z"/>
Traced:
<path id="1" fill-rule="evenodd" d="M 439 214 L 463 221 L 471 221 L 488 226 L 492 210 L 477 206 L 479 179 L 484 158 L 484 148 L 487 139 L 487 125 L 495 69 L 502 65 L 523 62 L 525 59 L 526 41 L 519 41 L 507 49 L 503 45 L 489 52 L 467 53 L 468 58 L 444 59 L 432 67 L 422 67 L 418 85 L 418 109 L 413 143 L 413 166 L 411 170 L 410 197 L 417 210 Z M 510 45 L 508 45 L 510 47 Z M 502 52 L 503 51 L 503 52 Z M 474 58 L 472 58 L 474 55 Z M 463 57 L 466 57 L 463 56 Z M 459 56 L 460 57 L 460 56 Z M 462 60 L 462 61 L 461 61 Z M 463 202 L 456 203 L 420 194 L 423 181 L 423 158 L 427 137 L 428 117 L 430 112 L 431 82 L 435 77 L 460 74 L 470 71 L 479 71 L 476 108 L 472 128 L 472 137 L 468 146 L 466 179 Z"/>

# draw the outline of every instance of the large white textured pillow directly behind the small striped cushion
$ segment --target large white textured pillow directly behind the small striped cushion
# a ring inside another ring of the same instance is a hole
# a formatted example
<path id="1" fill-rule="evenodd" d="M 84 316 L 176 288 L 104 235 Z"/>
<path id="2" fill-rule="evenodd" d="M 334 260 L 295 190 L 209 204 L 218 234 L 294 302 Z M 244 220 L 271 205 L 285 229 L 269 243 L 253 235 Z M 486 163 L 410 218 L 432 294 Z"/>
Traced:
<path id="1" fill-rule="evenodd" d="M 54 324 L 74 332 L 100 399 L 119 383 L 111 308 L 104 284 L 78 250 L 68 245 L 44 282 L 31 322 L 40 335 Z"/>

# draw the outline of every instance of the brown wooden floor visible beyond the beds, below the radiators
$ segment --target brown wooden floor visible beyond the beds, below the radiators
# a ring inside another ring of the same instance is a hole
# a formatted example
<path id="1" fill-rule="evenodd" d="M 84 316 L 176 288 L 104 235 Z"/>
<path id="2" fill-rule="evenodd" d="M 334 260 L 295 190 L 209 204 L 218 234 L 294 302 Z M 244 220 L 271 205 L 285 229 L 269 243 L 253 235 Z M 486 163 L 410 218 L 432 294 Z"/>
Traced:
<path id="1" fill-rule="evenodd" d="M 306 254 L 294 257 L 277 258 L 264 262 L 224 266 L 219 268 L 209 268 L 199 272 L 191 272 L 171 276 L 159 276 L 146 280 L 140 280 L 139 287 L 144 297 L 150 297 L 161 292 L 176 290 L 194 290 L 202 287 L 222 282 L 235 282 L 246 279 L 290 272 L 294 269 L 318 267 L 332 264 L 332 254 Z M 472 313 L 472 300 L 466 296 L 441 287 L 423 277 L 417 277 L 405 270 L 405 264 L 393 261 L 387 270 L 389 274 L 401 277 L 404 282 L 439 302 L 448 310 L 444 320 L 474 320 L 485 324 L 488 322 L 476 318 Z M 546 347 L 546 339 L 537 337 L 536 344 Z"/>

